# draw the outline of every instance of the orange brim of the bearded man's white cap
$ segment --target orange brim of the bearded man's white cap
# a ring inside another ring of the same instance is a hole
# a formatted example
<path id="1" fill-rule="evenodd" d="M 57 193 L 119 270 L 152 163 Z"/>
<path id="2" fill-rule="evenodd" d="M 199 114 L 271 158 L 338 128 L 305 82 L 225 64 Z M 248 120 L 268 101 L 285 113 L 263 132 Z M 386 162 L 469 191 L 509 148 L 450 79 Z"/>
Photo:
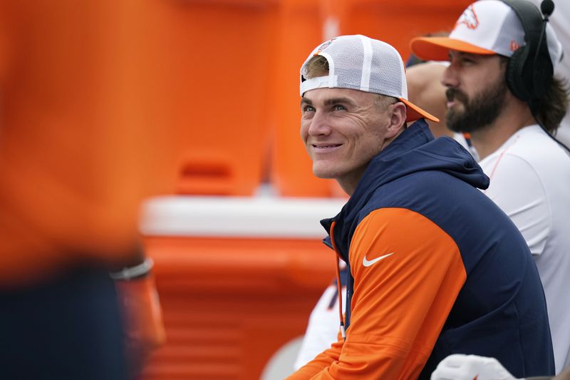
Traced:
<path id="1" fill-rule="evenodd" d="M 410 48 L 415 56 L 425 61 L 447 61 L 450 50 L 484 55 L 497 54 L 492 50 L 449 37 L 416 37 L 410 42 Z"/>

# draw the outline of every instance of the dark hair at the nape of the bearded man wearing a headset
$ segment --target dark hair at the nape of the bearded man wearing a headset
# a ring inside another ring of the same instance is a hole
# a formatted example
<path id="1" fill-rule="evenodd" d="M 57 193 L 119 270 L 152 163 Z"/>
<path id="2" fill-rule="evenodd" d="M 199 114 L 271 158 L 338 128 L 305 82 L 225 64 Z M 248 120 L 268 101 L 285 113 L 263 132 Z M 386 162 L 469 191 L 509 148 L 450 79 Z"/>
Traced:
<path id="1" fill-rule="evenodd" d="M 568 83 L 554 77 L 546 94 L 539 99 L 535 117 L 551 135 L 556 134 L 562 118 L 566 115 L 569 103 L 568 96 Z"/>

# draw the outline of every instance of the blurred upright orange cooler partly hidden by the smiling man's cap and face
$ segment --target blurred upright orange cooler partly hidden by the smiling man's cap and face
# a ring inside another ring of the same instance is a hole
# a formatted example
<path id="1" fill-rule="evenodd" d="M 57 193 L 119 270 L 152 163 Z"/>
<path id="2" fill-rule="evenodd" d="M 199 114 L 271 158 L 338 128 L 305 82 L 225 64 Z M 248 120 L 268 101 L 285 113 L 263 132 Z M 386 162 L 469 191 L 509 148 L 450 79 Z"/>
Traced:
<path id="1" fill-rule="evenodd" d="M 299 69 L 323 41 L 322 0 L 283 0 L 279 11 L 279 43 L 274 81 L 271 183 L 284 197 L 330 197 L 335 182 L 316 178 L 301 135 Z"/>

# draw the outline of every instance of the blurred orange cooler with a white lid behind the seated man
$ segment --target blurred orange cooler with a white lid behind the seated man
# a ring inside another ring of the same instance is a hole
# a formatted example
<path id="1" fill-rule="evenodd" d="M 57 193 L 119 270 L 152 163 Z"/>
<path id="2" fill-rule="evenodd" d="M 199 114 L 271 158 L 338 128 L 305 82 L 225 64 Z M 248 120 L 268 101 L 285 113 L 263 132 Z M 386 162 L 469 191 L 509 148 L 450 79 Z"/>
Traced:
<path id="1" fill-rule="evenodd" d="M 334 276 L 318 221 L 342 206 L 269 196 L 148 201 L 141 230 L 167 344 L 143 378 L 260 379 L 276 351 L 304 334 Z"/>

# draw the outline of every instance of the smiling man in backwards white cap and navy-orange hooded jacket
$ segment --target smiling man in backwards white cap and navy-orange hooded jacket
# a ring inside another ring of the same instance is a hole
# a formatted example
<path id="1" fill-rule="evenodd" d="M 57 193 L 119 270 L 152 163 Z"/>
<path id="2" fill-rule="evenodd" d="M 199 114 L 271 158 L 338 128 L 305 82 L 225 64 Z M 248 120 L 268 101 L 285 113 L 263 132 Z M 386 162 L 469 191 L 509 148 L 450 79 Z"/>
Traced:
<path id="1" fill-rule="evenodd" d="M 321 222 L 348 265 L 339 339 L 291 379 L 429 379 L 453 353 L 551 374 L 529 249 L 477 190 L 489 179 L 470 153 L 433 139 L 423 118 L 435 118 L 407 99 L 400 54 L 366 36 L 333 38 L 301 67 L 301 97 L 314 174 L 351 197 Z"/>

